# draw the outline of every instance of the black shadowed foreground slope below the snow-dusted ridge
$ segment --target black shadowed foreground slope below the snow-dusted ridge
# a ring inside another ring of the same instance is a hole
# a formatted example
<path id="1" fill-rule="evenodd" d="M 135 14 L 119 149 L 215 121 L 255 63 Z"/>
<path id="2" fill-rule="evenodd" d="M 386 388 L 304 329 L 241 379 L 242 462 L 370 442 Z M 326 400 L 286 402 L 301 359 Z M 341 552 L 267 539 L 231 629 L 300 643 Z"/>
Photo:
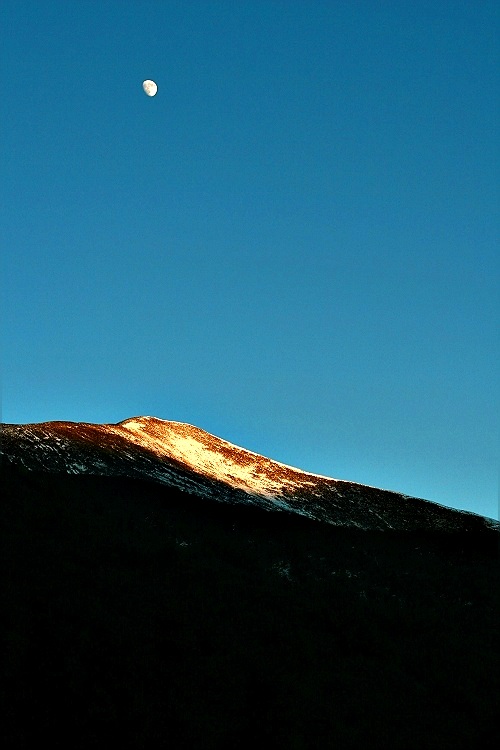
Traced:
<path id="1" fill-rule="evenodd" d="M 2 744 L 493 747 L 498 533 L 2 468 Z"/>

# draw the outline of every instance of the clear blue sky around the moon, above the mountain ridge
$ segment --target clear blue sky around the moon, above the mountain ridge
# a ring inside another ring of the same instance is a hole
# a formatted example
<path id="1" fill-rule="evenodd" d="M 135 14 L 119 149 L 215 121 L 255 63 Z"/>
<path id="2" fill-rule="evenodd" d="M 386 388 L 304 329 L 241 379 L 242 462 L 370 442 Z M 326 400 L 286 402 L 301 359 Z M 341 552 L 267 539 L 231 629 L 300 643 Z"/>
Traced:
<path id="1" fill-rule="evenodd" d="M 498 517 L 499 7 L 2 0 L 3 421 Z"/>

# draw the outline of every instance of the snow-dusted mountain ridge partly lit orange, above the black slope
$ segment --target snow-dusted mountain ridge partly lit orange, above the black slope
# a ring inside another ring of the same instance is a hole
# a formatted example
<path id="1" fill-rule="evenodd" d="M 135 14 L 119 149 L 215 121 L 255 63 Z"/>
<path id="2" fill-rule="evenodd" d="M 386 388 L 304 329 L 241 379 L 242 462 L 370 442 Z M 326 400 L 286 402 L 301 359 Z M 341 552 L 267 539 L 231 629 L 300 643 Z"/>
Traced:
<path id="1" fill-rule="evenodd" d="M 286 510 L 346 528 L 500 528 L 473 513 L 302 471 L 198 427 L 154 417 L 102 425 L 3 425 L 1 451 L 31 470 L 151 479 L 200 497 Z"/>

